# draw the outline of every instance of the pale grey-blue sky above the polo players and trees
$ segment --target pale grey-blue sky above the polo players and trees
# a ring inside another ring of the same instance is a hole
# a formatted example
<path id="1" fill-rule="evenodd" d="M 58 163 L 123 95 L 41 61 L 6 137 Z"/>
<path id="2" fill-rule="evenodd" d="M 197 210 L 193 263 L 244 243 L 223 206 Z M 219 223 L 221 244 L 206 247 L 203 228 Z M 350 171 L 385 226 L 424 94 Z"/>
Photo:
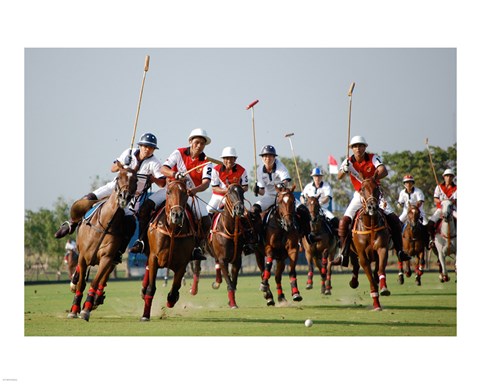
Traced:
<path id="1" fill-rule="evenodd" d="M 427 137 L 444 149 L 456 142 L 454 48 L 26 49 L 26 209 L 73 201 L 96 175 L 113 177 L 113 159 L 131 143 L 146 55 L 135 143 L 157 135 L 162 162 L 203 128 L 207 155 L 234 146 L 250 171 L 245 107 L 258 99 L 257 162 L 265 144 L 291 157 L 285 134 L 293 132 L 295 154 L 328 169 L 329 154 L 346 154 L 352 82 L 351 136 L 365 136 L 372 152 L 425 150 Z M 54 173 L 37 172 L 39 159 Z"/>

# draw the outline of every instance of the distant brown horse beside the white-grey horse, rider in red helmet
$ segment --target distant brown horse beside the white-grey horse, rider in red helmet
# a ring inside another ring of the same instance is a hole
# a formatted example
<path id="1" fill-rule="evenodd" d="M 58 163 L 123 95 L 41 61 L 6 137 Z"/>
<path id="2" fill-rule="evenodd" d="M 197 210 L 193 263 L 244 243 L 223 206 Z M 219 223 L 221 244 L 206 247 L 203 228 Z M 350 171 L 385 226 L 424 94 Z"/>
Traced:
<path id="1" fill-rule="evenodd" d="M 415 266 L 415 284 L 422 285 L 421 276 L 425 268 L 425 247 L 427 245 L 426 229 L 423 227 L 420 219 L 420 209 L 415 204 L 409 204 L 407 208 L 407 220 L 403 227 L 402 240 L 403 249 L 410 256 L 417 256 Z M 411 275 L 410 261 L 405 261 L 407 265 L 407 277 Z M 399 282 L 403 284 L 403 263 L 398 262 Z"/>

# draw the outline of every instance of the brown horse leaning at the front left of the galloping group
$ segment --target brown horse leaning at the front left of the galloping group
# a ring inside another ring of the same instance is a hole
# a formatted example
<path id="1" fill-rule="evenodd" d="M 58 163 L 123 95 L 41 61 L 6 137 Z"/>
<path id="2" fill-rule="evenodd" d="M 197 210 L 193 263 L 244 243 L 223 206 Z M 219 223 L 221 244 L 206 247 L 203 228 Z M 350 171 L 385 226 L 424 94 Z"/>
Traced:
<path id="1" fill-rule="evenodd" d="M 103 304 L 108 277 L 135 231 L 133 216 L 125 216 L 124 209 L 135 196 L 136 189 L 136 172 L 130 168 L 120 169 L 114 192 L 108 200 L 99 203 L 90 217 L 81 221 L 77 232 L 78 264 L 70 283 L 75 297 L 68 318 L 89 321 L 91 311 Z M 94 265 L 98 265 L 98 270 L 80 311 L 87 268 Z"/>

